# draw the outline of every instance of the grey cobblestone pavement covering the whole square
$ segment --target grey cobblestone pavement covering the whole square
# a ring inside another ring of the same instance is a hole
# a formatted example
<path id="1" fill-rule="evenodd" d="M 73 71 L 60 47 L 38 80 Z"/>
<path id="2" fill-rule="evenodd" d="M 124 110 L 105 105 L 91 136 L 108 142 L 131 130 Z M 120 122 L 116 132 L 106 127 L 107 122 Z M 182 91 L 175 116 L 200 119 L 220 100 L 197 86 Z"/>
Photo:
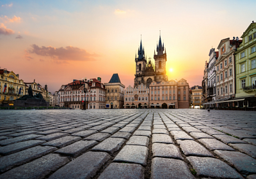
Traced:
<path id="1" fill-rule="evenodd" d="M 1 110 L 0 178 L 256 178 L 255 111 Z"/>

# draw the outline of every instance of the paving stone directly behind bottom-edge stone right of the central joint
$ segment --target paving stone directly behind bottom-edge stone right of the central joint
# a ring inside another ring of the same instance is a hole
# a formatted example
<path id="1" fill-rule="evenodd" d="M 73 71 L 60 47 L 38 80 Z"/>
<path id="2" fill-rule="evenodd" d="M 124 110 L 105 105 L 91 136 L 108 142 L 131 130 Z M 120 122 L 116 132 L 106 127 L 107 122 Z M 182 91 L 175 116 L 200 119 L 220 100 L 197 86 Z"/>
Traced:
<path id="1" fill-rule="evenodd" d="M 173 144 L 153 143 L 152 152 L 153 157 L 183 159 L 180 155 L 179 148 Z"/>

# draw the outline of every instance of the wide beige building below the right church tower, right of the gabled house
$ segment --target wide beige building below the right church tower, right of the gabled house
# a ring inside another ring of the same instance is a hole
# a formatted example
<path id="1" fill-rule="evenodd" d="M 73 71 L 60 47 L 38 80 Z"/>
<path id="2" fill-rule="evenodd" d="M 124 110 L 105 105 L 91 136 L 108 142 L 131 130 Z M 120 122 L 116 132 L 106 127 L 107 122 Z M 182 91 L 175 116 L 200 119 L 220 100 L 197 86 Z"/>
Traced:
<path id="1" fill-rule="evenodd" d="M 179 82 L 152 82 L 150 108 L 189 108 L 189 83 L 183 78 Z"/>

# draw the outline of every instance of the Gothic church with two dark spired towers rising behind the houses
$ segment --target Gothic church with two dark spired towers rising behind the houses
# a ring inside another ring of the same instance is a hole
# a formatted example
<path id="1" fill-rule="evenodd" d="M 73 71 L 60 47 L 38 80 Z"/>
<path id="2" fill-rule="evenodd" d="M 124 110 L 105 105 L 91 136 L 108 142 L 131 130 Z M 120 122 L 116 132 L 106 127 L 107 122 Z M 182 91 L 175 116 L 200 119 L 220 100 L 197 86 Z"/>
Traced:
<path id="1" fill-rule="evenodd" d="M 157 52 L 157 54 L 156 54 Z M 161 36 L 159 36 L 159 44 L 157 45 L 156 51 L 154 51 L 154 62 L 150 59 L 147 61 L 145 57 L 145 51 L 140 41 L 140 48 L 138 49 L 138 58 L 135 56 L 136 62 L 136 74 L 134 78 L 134 87 L 138 87 L 140 84 L 147 85 L 149 87 L 151 82 L 162 82 L 168 81 L 166 75 L 166 48 L 164 43 L 162 45 Z"/>

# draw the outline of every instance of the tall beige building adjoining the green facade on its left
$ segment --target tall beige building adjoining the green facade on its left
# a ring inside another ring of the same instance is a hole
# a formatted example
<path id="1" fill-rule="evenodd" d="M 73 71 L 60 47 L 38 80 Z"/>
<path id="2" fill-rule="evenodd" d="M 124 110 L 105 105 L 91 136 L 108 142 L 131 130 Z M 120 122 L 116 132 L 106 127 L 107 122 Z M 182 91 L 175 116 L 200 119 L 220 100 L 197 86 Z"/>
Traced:
<path id="1" fill-rule="evenodd" d="M 235 97 L 234 52 L 241 41 L 234 43 L 230 38 L 222 39 L 218 45 L 219 57 L 216 60 L 216 100 L 223 101 Z M 232 103 L 217 103 L 218 106 L 233 106 Z"/>

